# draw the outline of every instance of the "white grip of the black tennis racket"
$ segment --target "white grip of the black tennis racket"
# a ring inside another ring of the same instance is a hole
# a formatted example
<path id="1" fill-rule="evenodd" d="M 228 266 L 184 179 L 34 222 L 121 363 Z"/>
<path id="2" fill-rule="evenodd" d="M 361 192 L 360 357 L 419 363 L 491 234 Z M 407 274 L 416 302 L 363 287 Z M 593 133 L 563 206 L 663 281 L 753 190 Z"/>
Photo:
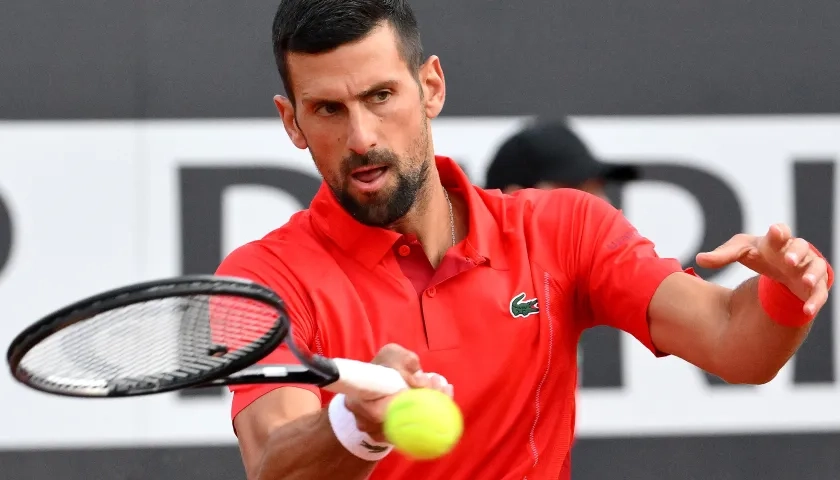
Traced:
<path id="1" fill-rule="evenodd" d="M 393 368 L 347 358 L 332 361 L 338 369 L 338 380 L 323 388 L 333 393 L 375 399 L 408 388 L 400 372 Z"/>

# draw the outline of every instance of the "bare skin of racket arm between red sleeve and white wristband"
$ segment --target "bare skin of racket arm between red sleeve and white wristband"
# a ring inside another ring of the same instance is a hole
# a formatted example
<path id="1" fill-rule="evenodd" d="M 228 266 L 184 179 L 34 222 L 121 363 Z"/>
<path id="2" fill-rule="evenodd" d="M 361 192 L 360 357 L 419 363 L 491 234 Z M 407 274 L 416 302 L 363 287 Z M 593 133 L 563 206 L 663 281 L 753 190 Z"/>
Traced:
<path id="1" fill-rule="evenodd" d="M 295 387 L 255 400 L 234 419 L 248 480 L 364 480 L 375 462 L 345 449 L 318 397 Z"/>

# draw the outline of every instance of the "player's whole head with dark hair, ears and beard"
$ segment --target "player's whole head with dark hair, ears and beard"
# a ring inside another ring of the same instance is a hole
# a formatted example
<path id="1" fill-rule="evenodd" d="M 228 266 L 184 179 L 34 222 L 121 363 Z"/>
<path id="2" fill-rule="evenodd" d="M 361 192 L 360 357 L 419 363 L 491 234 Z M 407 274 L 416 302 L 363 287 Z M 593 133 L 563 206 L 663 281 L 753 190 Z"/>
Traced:
<path id="1" fill-rule="evenodd" d="M 443 108 L 440 61 L 423 62 L 404 0 L 283 0 L 272 28 L 288 98 L 286 132 L 308 148 L 344 208 L 388 226 L 426 192 L 434 170 L 429 119 Z"/>

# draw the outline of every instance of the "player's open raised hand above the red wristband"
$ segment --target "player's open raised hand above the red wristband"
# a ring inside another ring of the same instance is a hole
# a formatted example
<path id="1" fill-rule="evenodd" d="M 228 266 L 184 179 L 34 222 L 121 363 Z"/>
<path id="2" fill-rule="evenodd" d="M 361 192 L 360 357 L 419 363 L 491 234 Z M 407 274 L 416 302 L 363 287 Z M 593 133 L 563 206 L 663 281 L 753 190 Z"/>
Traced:
<path id="1" fill-rule="evenodd" d="M 808 315 L 816 315 L 828 299 L 828 264 L 807 241 L 793 237 L 785 224 L 771 226 L 762 237 L 740 233 L 715 250 L 697 255 L 697 264 L 703 268 L 734 262 L 785 285 L 805 302 L 803 310 Z"/>

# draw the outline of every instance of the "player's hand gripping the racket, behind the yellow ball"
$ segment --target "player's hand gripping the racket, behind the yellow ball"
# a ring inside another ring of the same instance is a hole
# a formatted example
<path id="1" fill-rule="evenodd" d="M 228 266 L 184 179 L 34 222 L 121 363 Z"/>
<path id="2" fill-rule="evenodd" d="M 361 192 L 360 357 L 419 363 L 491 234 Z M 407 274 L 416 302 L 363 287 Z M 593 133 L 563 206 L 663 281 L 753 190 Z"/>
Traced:
<path id="1" fill-rule="evenodd" d="M 393 343 L 385 345 L 371 363 L 397 370 L 410 388 L 432 388 L 450 397 L 453 395 L 452 385 L 449 385 L 445 378 L 436 373 L 423 372 L 417 354 L 399 345 Z M 377 399 L 362 400 L 348 396 L 344 403 L 347 409 L 356 416 L 356 428 L 367 433 L 374 440 L 384 442 L 382 421 L 385 417 L 385 409 L 393 398 L 393 395 L 388 395 Z"/>

